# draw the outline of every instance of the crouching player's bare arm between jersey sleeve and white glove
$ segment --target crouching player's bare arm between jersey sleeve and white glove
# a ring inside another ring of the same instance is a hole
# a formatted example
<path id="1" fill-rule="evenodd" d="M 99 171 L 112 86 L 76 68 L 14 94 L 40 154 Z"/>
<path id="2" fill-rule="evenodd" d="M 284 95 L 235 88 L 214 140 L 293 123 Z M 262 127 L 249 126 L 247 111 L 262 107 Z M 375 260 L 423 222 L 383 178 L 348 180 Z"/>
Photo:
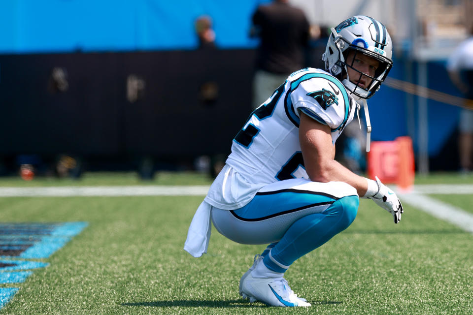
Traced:
<path id="1" fill-rule="evenodd" d="M 304 157 L 305 171 L 314 182 L 345 182 L 354 187 L 359 196 L 364 196 L 367 180 L 338 163 L 329 126 L 322 125 L 301 113 L 299 141 Z"/>

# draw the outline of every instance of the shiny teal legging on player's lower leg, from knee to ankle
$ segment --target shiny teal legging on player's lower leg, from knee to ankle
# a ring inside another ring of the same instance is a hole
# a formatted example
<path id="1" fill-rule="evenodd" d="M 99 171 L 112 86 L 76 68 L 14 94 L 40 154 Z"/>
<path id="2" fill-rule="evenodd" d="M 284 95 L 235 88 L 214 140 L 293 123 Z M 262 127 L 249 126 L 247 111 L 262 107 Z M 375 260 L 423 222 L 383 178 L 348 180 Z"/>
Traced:
<path id="1" fill-rule="evenodd" d="M 299 257 L 322 246 L 355 220 L 358 196 L 346 196 L 335 201 L 322 213 L 307 215 L 295 221 L 283 238 L 265 255 L 263 261 L 275 272 L 285 272 L 280 265 L 289 266 Z"/>

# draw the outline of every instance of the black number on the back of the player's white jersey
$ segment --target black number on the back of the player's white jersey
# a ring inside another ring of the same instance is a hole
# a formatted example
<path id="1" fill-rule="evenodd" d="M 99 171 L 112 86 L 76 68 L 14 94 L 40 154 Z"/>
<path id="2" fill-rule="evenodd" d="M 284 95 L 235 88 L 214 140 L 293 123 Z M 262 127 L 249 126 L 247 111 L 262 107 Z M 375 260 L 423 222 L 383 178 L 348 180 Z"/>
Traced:
<path id="1" fill-rule="evenodd" d="M 279 96 L 281 96 L 282 92 L 284 91 L 284 85 L 285 82 L 274 91 L 270 98 L 270 102 L 264 104 L 264 106 L 260 106 L 255 109 L 253 113 L 251 113 L 250 118 L 251 116 L 256 115 L 258 120 L 261 121 L 267 117 L 270 117 L 272 115 L 272 112 L 274 111 L 274 107 L 276 107 L 276 103 L 279 100 Z M 253 142 L 253 138 L 258 134 L 259 131 L 260 129 L 258 129 L 258 127 L 249 124 L 248 126 L 246 126 L 246 128 L 238 131 L 234 140 L 242 146 L 249 148 L 251 143 Z"/>

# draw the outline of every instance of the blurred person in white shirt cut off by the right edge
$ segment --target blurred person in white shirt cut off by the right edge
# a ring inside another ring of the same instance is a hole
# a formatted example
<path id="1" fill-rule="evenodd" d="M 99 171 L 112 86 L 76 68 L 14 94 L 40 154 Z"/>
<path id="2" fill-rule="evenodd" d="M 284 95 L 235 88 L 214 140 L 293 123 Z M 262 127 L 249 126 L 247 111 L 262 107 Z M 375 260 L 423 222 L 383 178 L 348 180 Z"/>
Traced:
<path id="1" fill-rule="evenodd" d="M 455 86 L 468 99 L 473 99 L 473 26 L 470 36 L 448 59 L 447 70 Z M 458 148 L 462 173 L 473 170 L 473 109 L 460 112 Z"/>

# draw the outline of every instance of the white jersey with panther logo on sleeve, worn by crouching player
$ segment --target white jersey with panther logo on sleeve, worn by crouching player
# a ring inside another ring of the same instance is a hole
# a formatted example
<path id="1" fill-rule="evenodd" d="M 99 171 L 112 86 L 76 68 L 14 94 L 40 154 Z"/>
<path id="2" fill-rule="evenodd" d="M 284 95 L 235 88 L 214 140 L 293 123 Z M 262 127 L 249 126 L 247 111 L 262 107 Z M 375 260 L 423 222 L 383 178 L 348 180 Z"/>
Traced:
<path id="1" fill-rule="evenodd" d="M 294 72 L 237 133 L 227 165 L 205 201 L 220 209 L 238 209 L 265 185 L 309 179 L 299 144 L 301 112 L 329 126 L 335 145 L 355 109 L 355 100 L 328 72 L 315 68 Z"/>

